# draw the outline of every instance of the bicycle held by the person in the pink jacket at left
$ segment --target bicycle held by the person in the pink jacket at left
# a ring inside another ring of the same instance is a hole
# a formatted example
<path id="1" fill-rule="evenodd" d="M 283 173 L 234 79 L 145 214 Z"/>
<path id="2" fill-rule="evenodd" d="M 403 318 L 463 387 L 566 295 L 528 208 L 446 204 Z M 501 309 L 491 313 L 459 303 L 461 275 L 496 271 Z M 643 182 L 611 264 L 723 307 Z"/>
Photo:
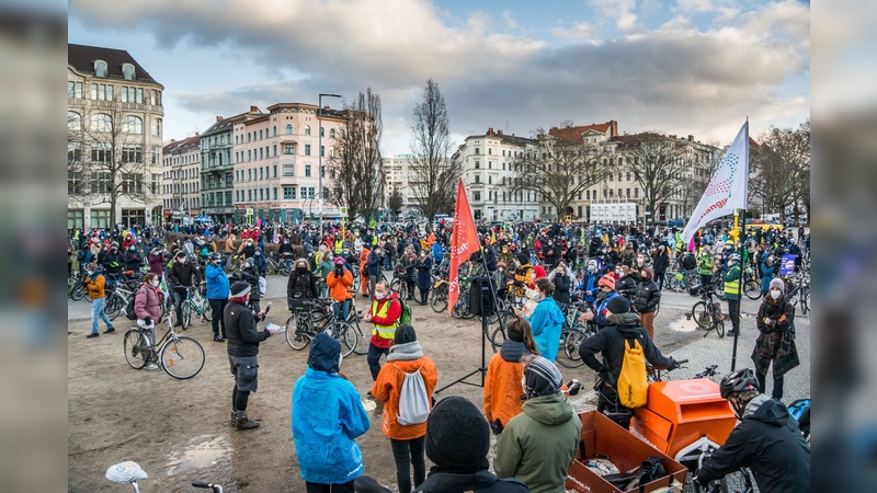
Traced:
<path id="1" fill-rule="evenodd" d="M 125 332 L 125 360 L 132 368 L 140 369 L 150 359 L 156 359 L 171 377 L 190 379 L 204 368 L 204 347 L 192 337 L 176 334 L 173 330 L 173 312 L 168 313 L 167 321 L 168 331 L 155 344 L 150 329 L 138 326 Z"/>

